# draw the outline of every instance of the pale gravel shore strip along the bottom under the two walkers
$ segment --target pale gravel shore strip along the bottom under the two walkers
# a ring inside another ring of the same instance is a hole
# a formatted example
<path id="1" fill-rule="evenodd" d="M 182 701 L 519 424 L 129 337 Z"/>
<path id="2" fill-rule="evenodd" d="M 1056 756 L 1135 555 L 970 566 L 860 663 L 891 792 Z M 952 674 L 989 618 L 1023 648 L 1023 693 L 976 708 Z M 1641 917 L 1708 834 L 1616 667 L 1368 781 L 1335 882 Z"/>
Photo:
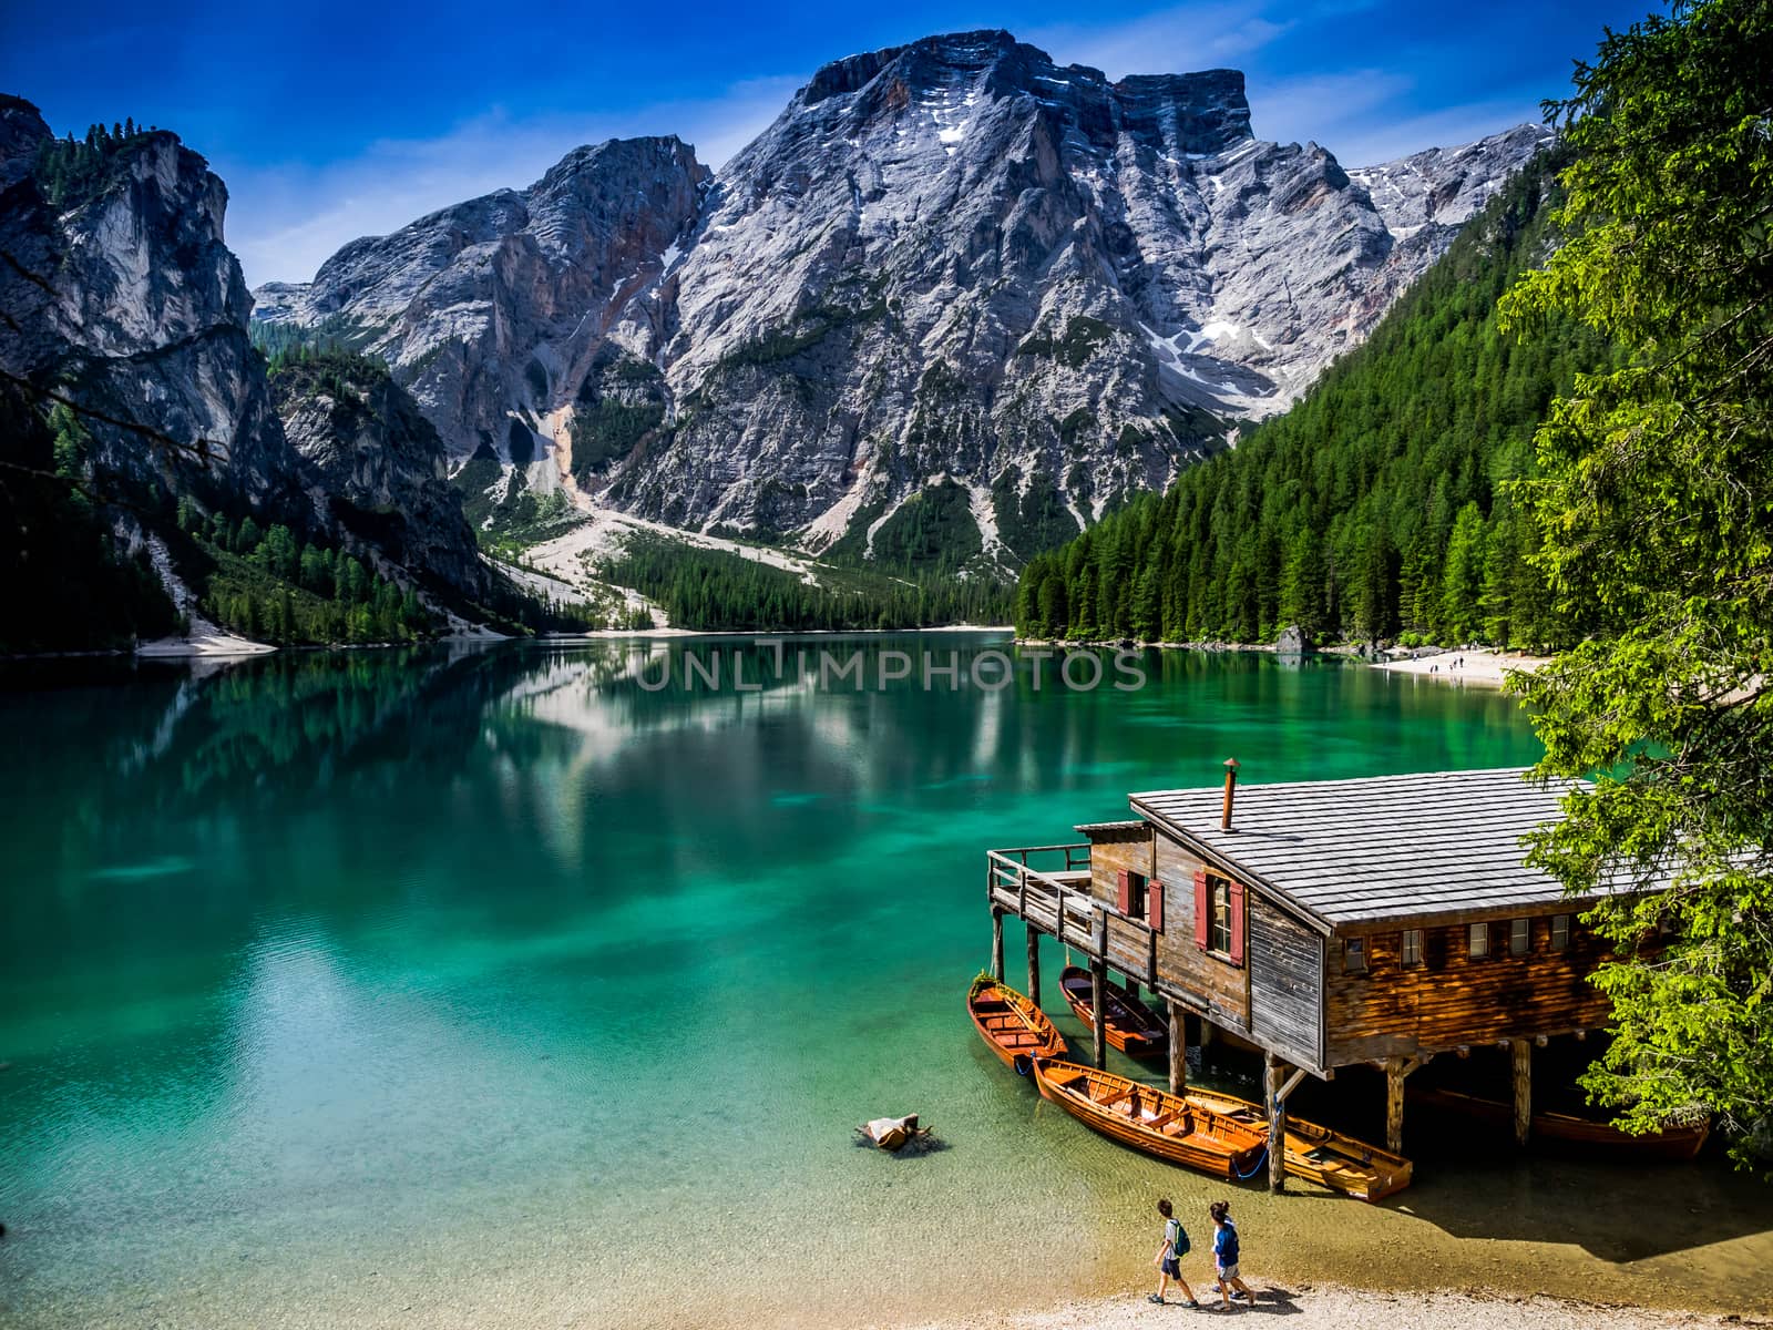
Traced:
<path id="1" fill-rule="evenodd" d="M 1193 1282 L 1200 1309 L 1179 1302 L 1170 1286 L 1165 1305 L 1145 1300 L 1149 1289 L 1112 1298 L 1073 1298 L 1041 1310 L 1005 1310 L 954 1319 L 927 1321 L 899 1330 L 1152 1330 L 1154 1326 L 1195 1325 L 1193 1318 L 1285 1316 L 1293 1330 L 1371 1330 L 1381 1325 L 1422 1326 L 1424 1330 L 1668 1330 L 1670 1326 L 1768 1326 L 1743 1312 L 1709 1314 L 1661 1310 L 1617 1302 L 1555 1298 L 1546 1293 L 1504 1295 L 1480 1289 L 1383 1291 L 1344 1284 L 1308 1282 L 1287 1287 L 1273 1280 L 1252 1279 L 1255 1305 L 1230 1309 L 1220 1305 L 1211 1279 Z M 1209 1296 L 1211 1293 L 1211 1296 Z"/>

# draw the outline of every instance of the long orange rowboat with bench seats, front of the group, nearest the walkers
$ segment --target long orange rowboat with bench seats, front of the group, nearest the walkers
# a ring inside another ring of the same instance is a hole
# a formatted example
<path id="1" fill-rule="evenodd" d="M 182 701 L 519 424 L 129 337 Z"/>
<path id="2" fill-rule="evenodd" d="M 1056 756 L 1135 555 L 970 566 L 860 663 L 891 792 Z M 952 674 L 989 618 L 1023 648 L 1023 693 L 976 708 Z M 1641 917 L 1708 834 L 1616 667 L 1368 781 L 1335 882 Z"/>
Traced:
<path id="1" fill-rule="evenodd" d="M 1268 1133 L 1191 1099 L 1050 1057 L 1034 1059 L 1041 1098 L 1122 1146 L 1215 1177 L 1250 1177 Z"/>

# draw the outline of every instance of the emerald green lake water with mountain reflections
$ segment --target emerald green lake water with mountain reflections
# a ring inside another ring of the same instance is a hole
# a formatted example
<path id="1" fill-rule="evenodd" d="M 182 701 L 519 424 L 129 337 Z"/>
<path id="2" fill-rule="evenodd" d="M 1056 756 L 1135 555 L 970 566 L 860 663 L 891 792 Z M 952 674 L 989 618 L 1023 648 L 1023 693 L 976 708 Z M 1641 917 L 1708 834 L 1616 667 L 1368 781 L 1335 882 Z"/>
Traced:
<path id="1" fill-rule="evenodd" d="M 1005 645 L 805 638 L 782 677 L 741 638 L 11 667 L 0 1323 L 847 1326 L 1142 1289 L 1152 1199 L 1227 1188 L 980 1046 L 982 851 L 1229 755 L 1264 782 L 1535 741 L 1496 692 L 1337 661 L 968 677 Z M 879 688 L 894 651 L 959 676 Z M 1301 1094 L 1379 1130 L 1376 1076 Z M 943 1149 L 853 1144 L 913 1110 Z M 1411 1130 L 1386 1206 L 1232 1193 L 1259 1286 L 1773 1307 L 1768 1192 L 1714 1162 Z"/>

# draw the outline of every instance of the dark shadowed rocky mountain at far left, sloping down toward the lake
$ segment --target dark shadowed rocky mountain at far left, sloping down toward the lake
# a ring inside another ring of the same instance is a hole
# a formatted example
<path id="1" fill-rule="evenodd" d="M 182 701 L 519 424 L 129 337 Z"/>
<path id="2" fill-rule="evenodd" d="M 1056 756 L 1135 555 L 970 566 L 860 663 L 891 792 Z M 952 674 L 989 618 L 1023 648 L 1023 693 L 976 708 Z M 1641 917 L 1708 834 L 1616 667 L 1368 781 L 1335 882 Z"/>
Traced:
<path id="1" fill-rule="evenodd" d="M 55 140 L 5 98 L 0 184 L 0 369 L 76 408 L 78 458 L 57 465 L 117 539 L 154 544 L 172 576 L 174 512 L 186 530 L 252 518 L 445 605 L 495 592 L 441 440 L 385 372 L 294 364 L 273 392 L 223 238 L 227 190 L 177 135 Z"/>

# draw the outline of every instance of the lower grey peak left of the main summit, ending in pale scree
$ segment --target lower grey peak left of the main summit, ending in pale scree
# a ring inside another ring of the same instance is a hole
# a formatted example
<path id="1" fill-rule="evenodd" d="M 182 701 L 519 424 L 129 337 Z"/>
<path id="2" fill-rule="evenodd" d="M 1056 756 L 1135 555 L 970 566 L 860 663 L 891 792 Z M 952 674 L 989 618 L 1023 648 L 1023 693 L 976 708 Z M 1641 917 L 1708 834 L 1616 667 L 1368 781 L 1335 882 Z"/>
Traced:
<path id="1" fill-rule="evenodd" d="M 500 190 L 360 239 L 257 317 L 383 356 L 457 456 L 550 454 L 610 325 L 688 239 L 707 168 L 676 138 L 582 147 Z"/>

